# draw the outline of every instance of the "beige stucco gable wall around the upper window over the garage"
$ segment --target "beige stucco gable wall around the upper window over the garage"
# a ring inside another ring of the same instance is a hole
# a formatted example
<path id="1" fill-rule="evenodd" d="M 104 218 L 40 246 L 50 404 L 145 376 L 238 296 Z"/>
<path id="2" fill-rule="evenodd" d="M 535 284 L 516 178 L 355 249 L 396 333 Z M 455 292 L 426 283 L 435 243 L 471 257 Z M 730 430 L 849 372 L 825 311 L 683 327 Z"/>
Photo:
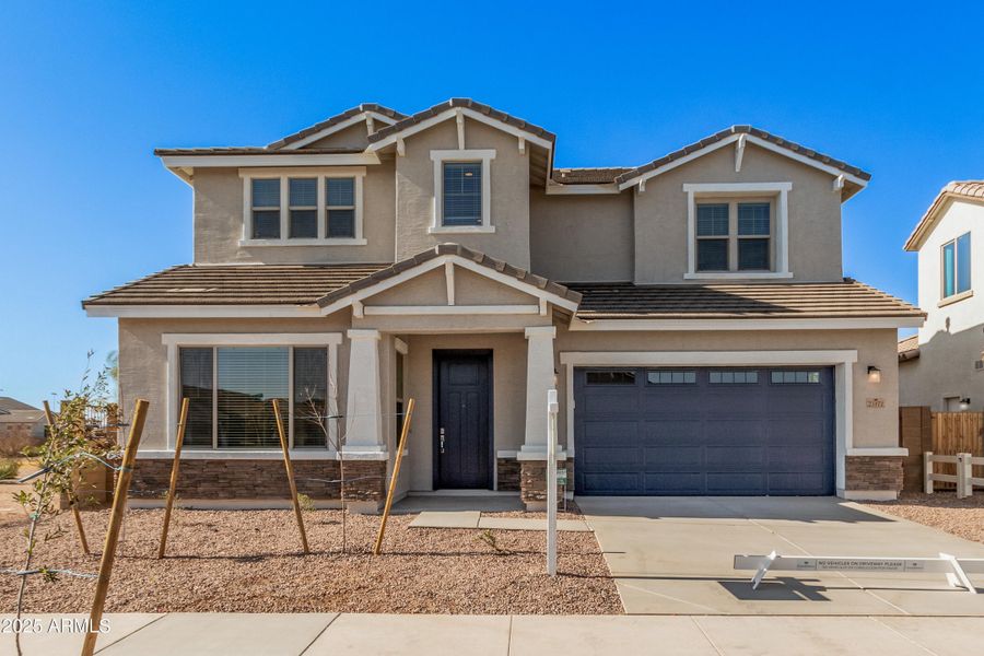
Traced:
<path id="1" fill-rule="evenodd" d="M 635 281 L 681 282 L 687 270 L 684 184 L 793 183 L 789 191 L 789 270 L 797 281 L 842 277 L 841 197 L 833 176 L 755 145 L 747 145 L 741 172 L 735 148 L 724 147 L 635 187 Z M 773 231 L 775 215 L 773 213 Z M 773 239 L 774 241 L 774 239 Z"/>

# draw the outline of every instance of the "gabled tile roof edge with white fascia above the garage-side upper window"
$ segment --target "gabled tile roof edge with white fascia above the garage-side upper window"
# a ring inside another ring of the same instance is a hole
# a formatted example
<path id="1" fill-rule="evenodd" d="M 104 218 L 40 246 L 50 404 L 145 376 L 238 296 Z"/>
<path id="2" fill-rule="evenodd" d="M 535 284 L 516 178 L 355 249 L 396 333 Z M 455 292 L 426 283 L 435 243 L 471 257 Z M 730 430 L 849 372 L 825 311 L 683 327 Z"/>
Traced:
<path id="1" fill-rule="evenodd" d="M 818 153 L 812 149 L 783 139 L 782 137 L 777 137 L 765 130 L 760 130 L 752 126 L 731 126 L 730 128 L 715 132 L 710 137 L 705 137 L 700 141 L 695 141 L 690 145 L 684 145 L 658 160 L 653 160 L 648 164 L 643 164 L 642 166 L 626 171 L 619 175 L 614 181 L 619 184 L 620 188 L 630 187 L 642 179 L 659 175 L 664 171 L 669 171 L 670 168 L 675 168 L 680 164 L 716 150 L 717 148 L 738 141 L 742 137 L 757 145 L 766 148 L 781 155 L 793 157 L 805 164 L 822 168 L 833 176 L 844 175 L 847 180 L 855 185 L 855 188 L 850 190 L 847 186 L 844 187 L 846 194 L 843 198 L 845 200 L 871 179 L 871 174 L 862 171 L 857 166 L 852 166 L 851 164 L 842 162 L 841 160 L 835 160 L 830 155 Z"/>

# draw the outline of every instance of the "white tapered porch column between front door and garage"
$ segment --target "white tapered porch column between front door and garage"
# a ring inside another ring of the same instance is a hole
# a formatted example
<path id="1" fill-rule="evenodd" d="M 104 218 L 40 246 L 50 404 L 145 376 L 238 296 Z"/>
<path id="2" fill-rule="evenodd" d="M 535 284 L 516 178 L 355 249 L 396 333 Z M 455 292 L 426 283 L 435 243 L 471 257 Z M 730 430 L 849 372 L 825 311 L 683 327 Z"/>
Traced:
<path id="1" fill-rule="evenodd" d="M 557 328 L 526 329 L 526 437 L 519 459 L 547 459 L 547 390 L 553 389 L 553 338 Z"/>

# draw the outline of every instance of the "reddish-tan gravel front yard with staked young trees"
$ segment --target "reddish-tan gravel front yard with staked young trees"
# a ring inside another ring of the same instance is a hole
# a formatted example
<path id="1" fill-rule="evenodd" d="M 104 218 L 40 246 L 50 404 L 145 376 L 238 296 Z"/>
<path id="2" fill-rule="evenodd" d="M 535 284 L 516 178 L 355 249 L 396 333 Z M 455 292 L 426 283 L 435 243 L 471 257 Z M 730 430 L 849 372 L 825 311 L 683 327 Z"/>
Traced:
<path id="1" fill-rule="evenodd" d="M 82 514 L 89 541 L 101 549 L 108 513 Z M 349 552 L 341 553 L 341 512 L 305 513 L 312 554 L 301 553 L 290 511 L 175 511 L 168 557 L 156 559 L 163 511 L 129 511 L 107 612 L 410 612 L 620 613 L 614 583 L 589 532 L 561 532 L 555 578 L 544 573 L 544 536 L 494 530 L 503 553 L 480 530 L 409 528 L 415 515 L 389 519 L 384 554 L 373 557 L 379 518 L 348 516 Z M 42 543 L 35 563 L 96 572 L 98 553 L 81 555 L 71 517 L 52 524 L 66 535 Z M 20 569 L 22 519 L 0 526 L 0 567 Z M 50 527 L 50 525 L 49 525 Z M 14 609 L 17 579 L 0 577 L 0 612 Z M 94 582 L 32 577 L 30 612 L 85 612 Z"/>

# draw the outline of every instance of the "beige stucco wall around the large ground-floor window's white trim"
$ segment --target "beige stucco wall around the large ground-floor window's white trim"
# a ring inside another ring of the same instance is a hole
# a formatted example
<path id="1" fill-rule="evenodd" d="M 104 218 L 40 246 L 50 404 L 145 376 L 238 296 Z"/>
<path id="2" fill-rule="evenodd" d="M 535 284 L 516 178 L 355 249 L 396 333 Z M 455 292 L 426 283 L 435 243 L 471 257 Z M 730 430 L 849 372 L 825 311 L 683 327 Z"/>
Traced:
<path id="1" fill-rule="evenodd" d="M 125 418 L 132 412 L 133 402 L 150 401 L 142 450 L 167 446 L 167 348 L 165 333 L 184 332 L 340 332 L 349 324 L 348 313 L 333 319 L 120 319 L 119 320 L 119 388 Z M 338 349 L 339 408 L 345 407 L 345 380 L 349 367 L 348 341 Z M 343 424 L 342 424 L 343 425 Z"/>

